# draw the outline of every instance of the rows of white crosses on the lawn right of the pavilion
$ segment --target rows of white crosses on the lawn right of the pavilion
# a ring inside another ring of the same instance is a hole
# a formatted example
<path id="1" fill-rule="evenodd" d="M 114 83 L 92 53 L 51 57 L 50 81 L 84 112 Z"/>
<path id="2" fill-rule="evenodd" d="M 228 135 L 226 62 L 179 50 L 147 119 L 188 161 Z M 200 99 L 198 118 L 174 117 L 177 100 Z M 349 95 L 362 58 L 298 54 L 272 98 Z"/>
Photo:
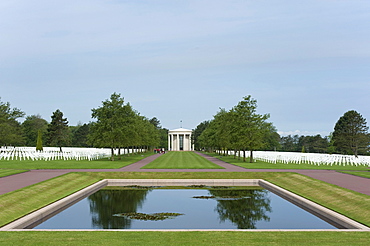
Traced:
<path id="1" fill-rule="evenodd" d="M 229 151 L 233 155 L 233 151 Z M 237 153 L 238 155 L 239 153 Z M 250 152 L 246 151 L 246 158 Z M 243 152 L 240 152 L 243 156 Z M 370 167 L 370 156 L 338 155 L 338 154 L 319 154 L 319 153 L 299 153 L 299 152 L 276 152 L 276 151 L 253 151 L 253 159 L 268 163 L 294 163 L 311 165 L 351 165 Z"/>

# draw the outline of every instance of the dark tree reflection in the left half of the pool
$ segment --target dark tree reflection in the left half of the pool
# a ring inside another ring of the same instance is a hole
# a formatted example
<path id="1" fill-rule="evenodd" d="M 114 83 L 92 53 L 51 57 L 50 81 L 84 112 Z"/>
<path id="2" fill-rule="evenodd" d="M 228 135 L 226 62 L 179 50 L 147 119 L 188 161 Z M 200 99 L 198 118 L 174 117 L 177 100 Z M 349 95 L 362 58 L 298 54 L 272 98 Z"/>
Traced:
<path id="1" fill-rule="evenodd" d="M 112 216 L 136 212 L 143 205 L 149 190 L 100 190 L 88 197 L 94 228 L 128 229 L 131 220 Z"/>

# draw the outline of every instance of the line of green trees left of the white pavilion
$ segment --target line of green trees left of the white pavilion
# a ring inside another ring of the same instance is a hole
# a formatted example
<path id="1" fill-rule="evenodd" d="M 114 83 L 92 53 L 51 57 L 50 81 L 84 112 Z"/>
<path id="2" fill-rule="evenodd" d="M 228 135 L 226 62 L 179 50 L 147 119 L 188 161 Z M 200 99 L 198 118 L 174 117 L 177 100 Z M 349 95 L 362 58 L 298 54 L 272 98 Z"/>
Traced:
<path id="1" fill-rule="evenodd" d="M 149 149 L 164 148 L 168 141 L 168 129 L 162 128 L 156 117 L 140 115 L 117 93 L 92 109 L 93 121 L 77 126 L 69 126 L 59 109 L 52 113 L 50 122 L 30 115 L 20 123 L 18 119 L 24 116 L 22 110 L 0 100 L 0 146 L 37 146 L 41 142 L 41 146 L 60 150 L 63 146 Z"/>

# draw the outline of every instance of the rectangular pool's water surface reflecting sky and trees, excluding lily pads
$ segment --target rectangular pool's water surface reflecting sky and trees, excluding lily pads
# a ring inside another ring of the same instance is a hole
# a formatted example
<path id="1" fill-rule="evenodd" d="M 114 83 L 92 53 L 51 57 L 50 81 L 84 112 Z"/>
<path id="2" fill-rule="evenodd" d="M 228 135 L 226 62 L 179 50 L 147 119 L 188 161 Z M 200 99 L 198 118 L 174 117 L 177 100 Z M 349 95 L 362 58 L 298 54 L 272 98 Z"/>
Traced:
<path id="1" fill-rule="evenodd" d="M 243 199 L 196 199 L 241 196 Z M 142 221 L 114 214 L 181 213 Z M 100 190 L 35 229 L 336 229 L 267 190 Z"/>

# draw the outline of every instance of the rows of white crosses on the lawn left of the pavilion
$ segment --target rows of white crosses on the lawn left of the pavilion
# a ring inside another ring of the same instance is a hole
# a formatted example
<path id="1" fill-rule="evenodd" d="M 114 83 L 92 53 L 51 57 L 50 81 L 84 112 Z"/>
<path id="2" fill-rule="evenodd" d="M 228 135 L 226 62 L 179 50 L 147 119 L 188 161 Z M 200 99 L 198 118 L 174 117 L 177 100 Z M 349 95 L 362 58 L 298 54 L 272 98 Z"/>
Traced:
<path id="1" fill-rule="evenodd" d="M 0 160 L 96 160 L 111 155 L 108 148 L 70 148 L 63 147 L 60 152 L 58 147 L 44 147 L 43 151 L 36 151 L 35 147 L 1 147 Z M 137 150 L 134 150 L 136 152 Z M 132 152 L 130 149 L 129 152 Z M 118 154 L 118 149 L 114 150 Z M 127 149 L 121 154 L 127 154 Z"/>

